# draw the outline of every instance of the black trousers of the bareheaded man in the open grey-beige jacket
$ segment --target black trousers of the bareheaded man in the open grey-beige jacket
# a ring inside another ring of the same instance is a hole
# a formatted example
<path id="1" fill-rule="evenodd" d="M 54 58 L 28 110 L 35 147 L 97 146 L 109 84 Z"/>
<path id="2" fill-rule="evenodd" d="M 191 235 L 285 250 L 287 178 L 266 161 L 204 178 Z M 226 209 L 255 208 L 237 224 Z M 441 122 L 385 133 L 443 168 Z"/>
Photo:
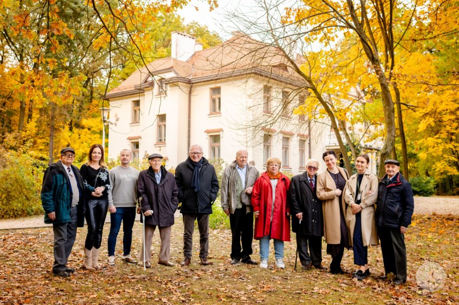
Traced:
<path id="1" fill-rule="evenodd" d="M 231 227 L 231 259 L 250 259 L 253 240 L 253 212 L 247 212 L 246 207 L 236 209 L 230 214 Z M 241 248 L 242 244 L 242 248 Z"/>

